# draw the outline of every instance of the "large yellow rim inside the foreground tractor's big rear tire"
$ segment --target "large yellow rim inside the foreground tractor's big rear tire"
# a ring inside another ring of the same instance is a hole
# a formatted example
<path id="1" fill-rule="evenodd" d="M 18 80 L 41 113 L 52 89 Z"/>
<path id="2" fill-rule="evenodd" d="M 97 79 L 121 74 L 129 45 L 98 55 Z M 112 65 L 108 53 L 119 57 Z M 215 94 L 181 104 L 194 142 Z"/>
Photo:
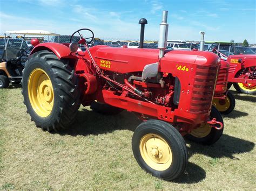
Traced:
<path id="1" fill-rule="evenodd" d="M 50 77 L 43 69 L 34 69 L 28 82 L 29 101 L 40 117 L 47 117 L 53 108 L 54 94 Z"/>

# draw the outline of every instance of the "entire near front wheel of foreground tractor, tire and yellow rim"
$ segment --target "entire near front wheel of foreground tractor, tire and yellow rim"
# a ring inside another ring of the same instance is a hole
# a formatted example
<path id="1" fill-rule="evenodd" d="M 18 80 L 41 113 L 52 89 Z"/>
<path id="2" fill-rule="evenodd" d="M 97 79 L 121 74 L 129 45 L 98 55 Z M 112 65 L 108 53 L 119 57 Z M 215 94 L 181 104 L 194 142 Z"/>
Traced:
<path id="1" fill-rule="evenodd" d="M 183 137 L 171 124 L 163 121 L 141 123 L 132 137 L 132 151 L 140 167 L 164 180 L 178 178 L 187 165 Z"/>

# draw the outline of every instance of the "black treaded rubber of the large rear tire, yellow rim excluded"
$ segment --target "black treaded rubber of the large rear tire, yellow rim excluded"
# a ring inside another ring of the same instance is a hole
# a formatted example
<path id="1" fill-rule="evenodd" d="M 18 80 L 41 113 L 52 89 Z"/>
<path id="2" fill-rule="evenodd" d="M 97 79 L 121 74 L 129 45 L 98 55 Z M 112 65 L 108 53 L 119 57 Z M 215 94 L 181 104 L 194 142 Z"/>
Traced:
<path id="1" fill-rule="evenodd" d="M 41 117 L 33 110 L 28 96 L 28 81 L 33 69 L 41 68 L 50 77 L 54 104 L 49 116 Z M 27 112 L 36 126 L 47 131 L 70 128 L 80 107 L 80 91 L 75 69 L 68 60 L 60 60 L 49 51 L 39 51 L 29 57 L 23 69 L 22 94 Z"/>

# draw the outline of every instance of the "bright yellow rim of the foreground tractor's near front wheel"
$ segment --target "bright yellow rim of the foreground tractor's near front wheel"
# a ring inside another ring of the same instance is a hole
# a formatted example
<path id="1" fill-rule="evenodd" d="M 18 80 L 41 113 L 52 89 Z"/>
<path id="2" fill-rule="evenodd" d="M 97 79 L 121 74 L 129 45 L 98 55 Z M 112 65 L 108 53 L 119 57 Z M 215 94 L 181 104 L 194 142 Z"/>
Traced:
<path id="1" fill-rule="evenodd" d="M 165 171 L 172 164 L 171 148 L 159 135 L 145 135 L 140 140 L 139 151 L 146 164 L 157 171 Z"/>

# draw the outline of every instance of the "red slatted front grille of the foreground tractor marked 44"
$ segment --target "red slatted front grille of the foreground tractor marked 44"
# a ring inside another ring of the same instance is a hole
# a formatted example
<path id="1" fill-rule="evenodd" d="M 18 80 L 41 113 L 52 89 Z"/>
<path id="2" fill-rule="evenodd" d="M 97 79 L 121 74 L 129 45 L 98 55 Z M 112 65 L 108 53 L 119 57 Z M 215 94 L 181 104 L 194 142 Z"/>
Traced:
<path id="1" fill-rule="evenodd" d="M 208 112 L 212 103 L 218 66 L 197 66 L 190 104 L 192 114 Z"/>

